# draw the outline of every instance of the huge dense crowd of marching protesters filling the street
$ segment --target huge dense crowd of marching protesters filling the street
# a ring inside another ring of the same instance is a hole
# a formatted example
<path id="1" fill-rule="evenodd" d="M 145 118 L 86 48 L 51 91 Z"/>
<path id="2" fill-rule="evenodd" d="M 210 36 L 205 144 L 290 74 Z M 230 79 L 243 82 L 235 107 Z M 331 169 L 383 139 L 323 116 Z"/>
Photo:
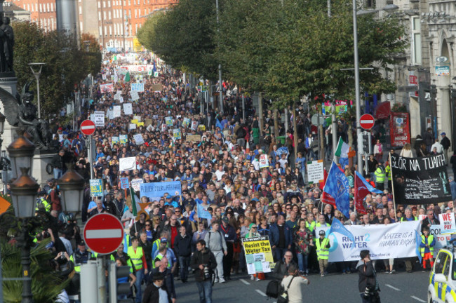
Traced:
<path id="1" fill-rule="evenodd" d="M 148 66 L 149 73 L 135 72 L 135 65 Z M 182 72 L 151 53 L 105 55 L 94 85 L 82 87 L 83 114 L 77 128 L 53 127 L 60 148 L 53 159 L 55 178 L 39 192 L 36 205 L 36 210 L 50 212 L 58 221 L 57 227 L 39 234 L 39 241 L 51 237 L 48 249 L 57 258 L 65 256 L 76 271 L 66 288 L 68 295 L 79 291 L 80 266 L 96 254 L 86 247 L 77 224 L 70 224 L 72 214 L 61 212 L 56 179 L 65 173 L 65 163 L 76 163 L 76 171 L 87 181 L 82 222 L 110 213 L 125 227 L 125 239 L 110 258 L 131 267 L 129 297 L 135 302 L 159 302 L 156 298 L 165 296 L 163 290 L 169 302 L 176 302 L 175 284 L 194 278 L 201 302 L 208 303 L 212 282 L 229 283 L 234 275 L 254 281 L 281 279 L 288 275 L 290 264 L 300 276 L 350 274 L 357 271 L 356 261 L 331 262 L 329 257 L 327 233 L 333 222 L 349 228 L 420 221 L 420 236 L 423 232 L 423 241 L 431 244 L 429 228 L 439 224 L 439 214 L 452 213 L 452 198 L 448 203 L 423 205 L 394 201 L 391 165 L 378 132 L 373 131 L 376 148 L 367 161 L 368 174 L 356 173 L 345 143 L 349 132 L 356 130 L 354 119 L 340 119 L 337 129 L 324 126 L 325 180 L 309 182 L 308 161 L 318 160 L 316 127 L 311 125 L 309 109 L 298 111 L 295 146 L 293 130 L 286 131 L 283 123 L 279 123 L 280 137 L 274 136 L 272 109 L 264 105 L 264 112 L 257 113 L 252 99 L 246 97 L 243 113 L 236 86 L 223 82 L 222 87 L 223 113 L 216 97 L 213 104 L 201 102 L 201 86 L 192 87 Z M 263 136 L 259 114 L 264 117 Z M 85 119 L 102 123 L 93 135 L 93 172 L 88 141 L 79 130 Z M 337 132 L 337 147 L 332 146 L 332 132 Z M 338 165 L 330 159 L 333 148 L 341 159 Z M 410 144 L 401 156 L 408 150 Z M 417 147 L 417 152 L 424 151 Z M 328 172 L 326 167 L 330 167 Z M 335 180 L 334 170 L 346 177 L 347 207 L 337 206 L 328 192 L 331 189 L 323 191 L 325 182 Z M 101 182 L 89 186 L 91 173 L 92 179 Z M 356 184 L 364 184 L 364 191 Z M 271 265 L 275 263 L 270 273 L 258 271 L 243 248 L 243 239 L 264 236 L 269 241 Z M 420 250 L 427 256 L 422 264 L 418 256 L 387 257 L 376 262 L 375 269 L 389 274 L 421 271 L 426 260 L 432 264 L 432 245 L 424 244 Z M 152 284 L 156 288 L 149 288 Z"/>

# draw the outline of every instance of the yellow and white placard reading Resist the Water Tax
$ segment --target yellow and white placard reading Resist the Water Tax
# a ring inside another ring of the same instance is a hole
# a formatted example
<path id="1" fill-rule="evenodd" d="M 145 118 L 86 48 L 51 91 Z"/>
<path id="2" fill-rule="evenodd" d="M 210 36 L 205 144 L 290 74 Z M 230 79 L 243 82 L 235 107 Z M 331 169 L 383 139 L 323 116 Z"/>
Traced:
<path id="1" fill-rule="evenodd" d="M 271 272 L 271 263 L 274 263 L 274 258 L 269 236 L 242 238 L 242 244 L 246 251 L 248 274 Z"/>

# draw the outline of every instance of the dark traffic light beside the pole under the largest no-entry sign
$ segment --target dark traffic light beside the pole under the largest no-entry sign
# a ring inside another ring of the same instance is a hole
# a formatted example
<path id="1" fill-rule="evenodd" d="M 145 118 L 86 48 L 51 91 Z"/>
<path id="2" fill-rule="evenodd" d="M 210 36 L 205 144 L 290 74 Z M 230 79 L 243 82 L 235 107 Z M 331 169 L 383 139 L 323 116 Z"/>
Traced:
<path id="1" fill-rule="evenodd" d="M 130 267 L 117 267 L 116 262 L 111 262 L 108 264 L 109 303 L 131 302 L 131 299 L 117 299 L 117 296 L 119 295 L 125 295 L 126 297 L 130 293 L 130 283 L 128 283 L 128 276 L 130 276 Z M 123 278 L 123 280 L 126 282 L 118 283 L 118 278 Z"/>

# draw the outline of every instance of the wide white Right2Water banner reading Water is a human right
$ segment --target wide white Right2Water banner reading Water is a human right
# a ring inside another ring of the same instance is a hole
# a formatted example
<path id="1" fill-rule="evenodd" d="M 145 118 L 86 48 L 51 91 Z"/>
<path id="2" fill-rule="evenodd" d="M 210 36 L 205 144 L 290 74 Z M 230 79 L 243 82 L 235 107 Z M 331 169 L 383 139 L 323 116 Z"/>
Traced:
<path id="1" fill-rule="evenodd" d="M 329 262 L 358 261 L 361 250 L 370 250 L 372 260 L 416 257 L 419 252 L 420 221 L 344 227 L 355 241 L 338 232 L 330 233 Z M 317 227 L 316 234 L 321 229 L 327 231 L 329 227 Z"/>

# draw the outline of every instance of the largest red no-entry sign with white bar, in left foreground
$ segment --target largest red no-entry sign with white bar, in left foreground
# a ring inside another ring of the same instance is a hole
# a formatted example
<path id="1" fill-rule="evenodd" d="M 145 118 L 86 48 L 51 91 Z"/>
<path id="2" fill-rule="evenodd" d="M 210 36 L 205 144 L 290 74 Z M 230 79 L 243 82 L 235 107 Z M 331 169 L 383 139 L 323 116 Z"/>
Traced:
<path id="1" fill-rule="evenodd" d="M 84 240 L 95 253 L 114 252 L 123 241 L 123 227 L 114 215 L 102 213 L 91 217 L 84 227 Z"/>

